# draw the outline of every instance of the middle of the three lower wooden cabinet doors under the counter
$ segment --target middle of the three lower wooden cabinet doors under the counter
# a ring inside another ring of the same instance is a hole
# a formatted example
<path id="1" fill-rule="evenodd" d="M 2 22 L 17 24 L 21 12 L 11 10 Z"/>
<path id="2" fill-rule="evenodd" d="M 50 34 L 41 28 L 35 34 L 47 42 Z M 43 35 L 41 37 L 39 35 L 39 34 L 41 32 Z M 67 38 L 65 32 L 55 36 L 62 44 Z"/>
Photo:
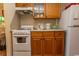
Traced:
<path id="1" fill-rule="evenodd" d="M 54 56 L 54 38 L 44 38 L 43 55 L 44 56 Z"/>

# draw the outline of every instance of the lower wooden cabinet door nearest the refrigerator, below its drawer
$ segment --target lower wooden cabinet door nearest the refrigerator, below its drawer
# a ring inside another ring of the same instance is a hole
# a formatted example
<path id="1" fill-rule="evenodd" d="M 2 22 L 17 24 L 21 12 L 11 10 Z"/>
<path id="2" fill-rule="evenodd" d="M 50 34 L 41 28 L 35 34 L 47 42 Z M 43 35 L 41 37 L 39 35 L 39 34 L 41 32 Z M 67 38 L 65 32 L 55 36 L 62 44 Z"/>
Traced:
<path id="1" fill-rule="evenodd" d="M 55 38 L 55 55 L 64 55 L 64 38 Z"/>

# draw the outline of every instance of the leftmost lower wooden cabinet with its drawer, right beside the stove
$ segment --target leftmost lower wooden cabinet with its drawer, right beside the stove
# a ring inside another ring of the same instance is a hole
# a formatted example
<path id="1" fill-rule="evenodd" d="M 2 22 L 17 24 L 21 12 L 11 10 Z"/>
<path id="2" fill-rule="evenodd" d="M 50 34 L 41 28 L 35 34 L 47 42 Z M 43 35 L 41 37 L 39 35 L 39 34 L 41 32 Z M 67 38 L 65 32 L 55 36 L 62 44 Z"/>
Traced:
<path id="1" fill-rule="evenodd" d="M 38 35 L 39 34 L 39 35 Z M 32 55 L 41 56 L 42 55 L 42 32 L 32 32 Z"/>

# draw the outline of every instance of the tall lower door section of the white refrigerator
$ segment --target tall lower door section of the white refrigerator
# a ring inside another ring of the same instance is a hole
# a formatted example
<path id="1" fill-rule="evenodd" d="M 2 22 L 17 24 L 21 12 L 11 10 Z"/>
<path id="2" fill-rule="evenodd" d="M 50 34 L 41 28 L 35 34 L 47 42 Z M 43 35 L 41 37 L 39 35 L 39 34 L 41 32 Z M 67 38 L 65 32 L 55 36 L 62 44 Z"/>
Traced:
<path id="1" fill-rule="evenodd" d="M 68 27 L 66 36 L 66 55 L 79 55 L 79 27 Z"/>

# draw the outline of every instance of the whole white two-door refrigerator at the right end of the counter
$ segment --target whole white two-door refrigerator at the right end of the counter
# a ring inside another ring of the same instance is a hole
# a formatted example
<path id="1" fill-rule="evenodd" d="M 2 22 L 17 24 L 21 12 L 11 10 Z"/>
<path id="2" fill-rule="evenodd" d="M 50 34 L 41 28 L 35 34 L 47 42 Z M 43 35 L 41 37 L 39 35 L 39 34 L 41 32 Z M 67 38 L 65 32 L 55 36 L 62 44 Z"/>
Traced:
<path id="1" fill-rule="evenodd" d="M 60 26 L 66 30 L 65 55 L 79 55 L 79 5 L 62 12 Z"/>

